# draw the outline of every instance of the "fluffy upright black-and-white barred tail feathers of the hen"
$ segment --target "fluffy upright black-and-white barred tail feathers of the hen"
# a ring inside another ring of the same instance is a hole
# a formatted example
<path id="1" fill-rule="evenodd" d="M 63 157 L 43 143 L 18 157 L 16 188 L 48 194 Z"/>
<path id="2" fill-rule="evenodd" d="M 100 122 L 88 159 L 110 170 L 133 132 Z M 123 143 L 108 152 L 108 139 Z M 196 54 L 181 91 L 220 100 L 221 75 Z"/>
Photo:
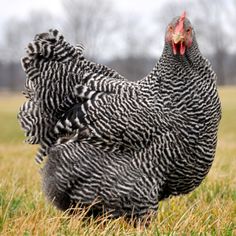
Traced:
<path id="1" fill-rule="evenodd" d="M 24 94 L 28 99 L 20 108 L 18 119 L 27 142 L 40 144 L 37 161 L 57 140 L 54 127 L 58 119 L 75 104 L 86 99 L 77 96 L 74 88 L 97 80 L 125 81 L 116 71 L 86 60 L 81 46 L 74 47 L 57 30 L 36 35 L 22 59 L 26 73 Z"/>

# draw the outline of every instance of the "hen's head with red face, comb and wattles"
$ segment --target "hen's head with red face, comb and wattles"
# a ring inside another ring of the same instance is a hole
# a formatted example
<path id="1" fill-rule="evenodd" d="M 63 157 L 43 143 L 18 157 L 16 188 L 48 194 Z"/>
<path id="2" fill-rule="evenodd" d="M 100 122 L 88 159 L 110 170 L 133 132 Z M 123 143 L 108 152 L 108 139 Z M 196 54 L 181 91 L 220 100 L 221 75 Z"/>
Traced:
<path id="1" fill-rule="evenodd" d="M 172 47 L 173 54 L 184 55 L 186 48 L 193 42 L 193 29 L 190 21 L 186 18 L 186 12 L 180 17 L 174 18 L 167 27 L 165 40 Z"/>

